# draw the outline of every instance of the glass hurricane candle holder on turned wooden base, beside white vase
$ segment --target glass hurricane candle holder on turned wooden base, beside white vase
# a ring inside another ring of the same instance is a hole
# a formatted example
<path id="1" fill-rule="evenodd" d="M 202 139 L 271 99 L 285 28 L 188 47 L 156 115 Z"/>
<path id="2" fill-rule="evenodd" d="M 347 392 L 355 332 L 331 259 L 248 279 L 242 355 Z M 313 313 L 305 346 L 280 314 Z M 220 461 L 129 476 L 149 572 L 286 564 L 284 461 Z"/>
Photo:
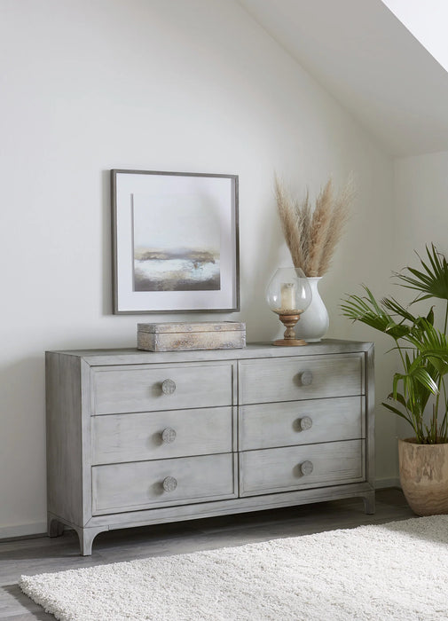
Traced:
<path id="1" fill-rule="evenodd" d="M 311 298 L 310 283 L 299 267 L 279 267 L 266 289 L 266 300 L 287 329 L 283 339 L 274 341 L 273 345 L 306 345 L 305 341 L 295 338 L 294 327 L 310 306 Z"/>

